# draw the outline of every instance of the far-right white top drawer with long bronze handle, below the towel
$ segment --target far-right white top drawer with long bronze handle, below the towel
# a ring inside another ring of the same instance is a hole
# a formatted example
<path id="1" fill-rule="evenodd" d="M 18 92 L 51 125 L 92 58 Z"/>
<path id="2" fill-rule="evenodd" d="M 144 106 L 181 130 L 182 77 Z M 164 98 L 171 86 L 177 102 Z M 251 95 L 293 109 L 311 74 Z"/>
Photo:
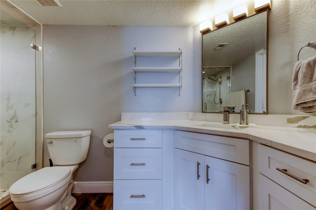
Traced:
<path id="1" fill-rule="evenodd" d="M 258 145 L 258 156 L 261 174 L 316 206 L 316 163 L 262 144 Z M 304 184 L 291 175 L 309 181 Z"/>

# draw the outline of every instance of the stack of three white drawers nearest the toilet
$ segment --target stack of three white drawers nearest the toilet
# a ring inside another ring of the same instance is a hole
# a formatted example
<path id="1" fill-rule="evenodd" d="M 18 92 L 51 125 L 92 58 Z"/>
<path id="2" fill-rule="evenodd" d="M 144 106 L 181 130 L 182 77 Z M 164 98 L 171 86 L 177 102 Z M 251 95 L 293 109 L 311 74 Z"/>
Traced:
<path id="1" fill-rule="evenodd" d="M 162 209 L 162 131 L 114 131 L 115 210 Z"/>

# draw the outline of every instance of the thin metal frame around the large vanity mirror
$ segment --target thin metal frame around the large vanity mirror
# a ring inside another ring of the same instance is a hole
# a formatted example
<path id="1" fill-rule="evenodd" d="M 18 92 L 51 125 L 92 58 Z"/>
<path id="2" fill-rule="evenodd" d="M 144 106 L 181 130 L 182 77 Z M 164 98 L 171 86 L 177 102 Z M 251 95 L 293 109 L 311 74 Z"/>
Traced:
<path id="1" fill-rule="evenodd" d="M 264 12 L 266 12 L 266 20 L 267 20 L 267 25 L 266 25 L 266 112 L 251 112 L 252 114 L 268 114 L 269 112 L 268 112 L 268 110 L 269 110 L 269 107 L 268 107 L 268 105 L 269 105 L 269 103 L 268 103 L 268 72 L 269 72 L 269 67 L 268 67 L 268 57 L 269 57 L 269 48 L 268 48 L 268 46 L 269 46 L 269 9 L 266 9 L 266 10 L 262 10 L 262 11 L 260 11 L 260 12 L 258 12 L 258 13 L 256 13 L 256 14 L 253 14 L 253 15 L 250 15 L 250 16 L 248 16 L 248 17 L 245 17 L 245 18 L 243 18 L 243 19 L 240 19 L 240 20 L 237 20 L 237 21 L 235 21 L 235 22 L 233 22 L 233 23 L 230 23 L 230 24 L 228 24 L 228 25 L 225 25 L 225 26 L 223 26 L 223 27 L 220 27 L 220 28 L 218 28 L 218 29 L 215 29 L 215 30 L 213 30 L 213 31 L 210 31 L 210 32 L 207 32 L 207 33 L 204 33 L 204 34 L 202 34 L 202 39 L 201 39 L 201 45 L 202 45 L 202 47 L 201 47 L 201 51 L 202 51 L 202 58 L 201 58 L 201 63 L 202 63 L 202 68 L 201 68 L 201 71 L 203 71 L 203 38 L 204 38 L 204 35 L 208 35 L 208 34 L 210 34 L 210 33 L 212 33 L 212 32 L 215 32 L 215 31 L 218 31 L 218 30 L 220 30 L 220 29 L 224 29 L 224 28 L 226 28 L 226 27 L 228 27 L 228 26 L 230 26 L 230 25 L 232 25 L 232 24 L 234 24 L 234 23 L 238 23 L 238 22 L 240 22 L 240 21 L 243 21 L 243 20 L 246 20 L 246 19 L 248 19 L 248 18 L 251 18 L 251 17 L 253 17 L 253 16 L 255 16 L 255 15 L 258 15 L 258 14 L 261 14 L 261 13 L 264 13 Z M 226 65 L 227 66 L 227 65 Z M 229 65 L 228 65 L 229 66 Z M 205 67 L 204 67 L 205 68 Z M 207 112 L 207 111 L 204 111 L 204 105 L 203 105 L 203 72 L 202 72 L 202 78 L 201 78 L 201 80 L 202 80 L 202 82 L 201 82 L 201 93 L 202 93 L 202 113 L 223 113 L 223 110 L 219 110 L 219 111 L 216 111 L 216 112 Z M 251 109 L 251 107 L 250 107 L 250 109 Z M 235 111 L 237 111 L 237 112 L 235 112 L 235 113 L 239 113 L 239 110 L 235 110 Z"/>

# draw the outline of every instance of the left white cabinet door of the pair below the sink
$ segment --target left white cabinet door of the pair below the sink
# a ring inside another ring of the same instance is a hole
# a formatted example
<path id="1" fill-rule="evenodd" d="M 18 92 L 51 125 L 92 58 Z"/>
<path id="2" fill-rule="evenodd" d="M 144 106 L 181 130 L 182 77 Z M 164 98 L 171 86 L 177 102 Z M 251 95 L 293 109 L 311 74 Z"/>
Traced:
<path id="1" fill-rule="evenodd" d="M 204 155 L 174 149 L 174 209 L 204 210 Z"/>

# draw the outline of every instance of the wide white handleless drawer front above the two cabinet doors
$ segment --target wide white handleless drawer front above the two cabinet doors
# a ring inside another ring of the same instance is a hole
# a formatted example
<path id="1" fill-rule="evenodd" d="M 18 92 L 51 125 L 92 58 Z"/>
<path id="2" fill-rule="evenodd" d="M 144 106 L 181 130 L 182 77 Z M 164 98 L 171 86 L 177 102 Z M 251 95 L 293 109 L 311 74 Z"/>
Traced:
<path id="1" fill-rule="evenodd" d="M 249 140 L 175 131 L 174 147 L 249 165 Z"/>

